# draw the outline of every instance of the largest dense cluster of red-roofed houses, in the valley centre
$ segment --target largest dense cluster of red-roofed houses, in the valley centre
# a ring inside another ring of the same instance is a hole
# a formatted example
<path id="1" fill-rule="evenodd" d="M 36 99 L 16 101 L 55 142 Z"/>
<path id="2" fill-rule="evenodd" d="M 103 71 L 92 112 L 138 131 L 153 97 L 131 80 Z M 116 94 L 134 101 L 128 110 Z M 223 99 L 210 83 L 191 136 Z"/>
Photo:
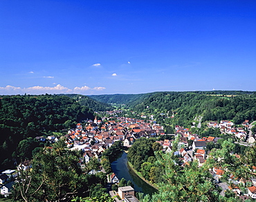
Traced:
<path id="1" fill-rule="evenodd" d="M 82 163 L 88 163 L 93 157 L 100 158 L 102 152 L 116 141 L 120 140 L 125 147 L 131 147 L 136 138 L 154 137 L 163 133 L 163 127 L 154 122 L 123 117 L 117 120 L 109 118 L 108 122 L 102 122 L 95 118 L 88 120 L 85 126 L 77 123 L 76 128 L 70 129 L 65 138 L 67 147 L 82 150 Z M 53 136 L 53 140 L 56 137 Z"/>

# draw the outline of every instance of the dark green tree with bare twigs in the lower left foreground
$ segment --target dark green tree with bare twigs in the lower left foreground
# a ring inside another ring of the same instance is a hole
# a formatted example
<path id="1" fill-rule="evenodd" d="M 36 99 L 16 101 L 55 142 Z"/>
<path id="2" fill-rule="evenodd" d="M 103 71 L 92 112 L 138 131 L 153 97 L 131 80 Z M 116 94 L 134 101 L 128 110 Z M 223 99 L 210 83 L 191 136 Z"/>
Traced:
<path id="1" fill-rule="evenodd" d="M 21 171 L 14 198 L 24 201 L 66 201 L 84 186 L 79 154 L 59 140 L 53 149 L 42 149 L 32 160 L 32 169 Z M 85 188 L 84 186 L 83 188 Z"/>

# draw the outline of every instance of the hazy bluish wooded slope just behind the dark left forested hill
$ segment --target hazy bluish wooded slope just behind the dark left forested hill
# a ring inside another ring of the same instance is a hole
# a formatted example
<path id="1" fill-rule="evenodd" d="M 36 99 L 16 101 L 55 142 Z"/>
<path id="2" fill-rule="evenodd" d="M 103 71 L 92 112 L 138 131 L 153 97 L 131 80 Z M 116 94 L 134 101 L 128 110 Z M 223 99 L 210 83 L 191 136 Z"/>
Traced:
<path id="1" fill-rule="evenodd" d="M 63 94 L 60 94 L 63 95 Z M 113 110 L 111 104 L 107 104 L 108 102 L 102 102 L 101 100 L 96 100 L 89 98 L 86 95 L 79 94 L 66 94 L 69 98 L 73 98 L 75 101 L 79 102 L 82 106 L 88 107 L 93 111 L 110 111 Z"/>

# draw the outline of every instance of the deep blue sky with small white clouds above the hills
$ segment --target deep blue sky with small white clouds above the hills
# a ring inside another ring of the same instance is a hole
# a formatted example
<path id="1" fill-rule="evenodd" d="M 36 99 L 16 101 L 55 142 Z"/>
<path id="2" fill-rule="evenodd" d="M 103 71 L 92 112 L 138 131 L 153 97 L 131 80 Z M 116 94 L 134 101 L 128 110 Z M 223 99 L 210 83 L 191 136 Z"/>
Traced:
<path id="1" fill-rule="evenodd" d="M 1 0 L 0 95 L 256 91 L 256 1 Z"/>

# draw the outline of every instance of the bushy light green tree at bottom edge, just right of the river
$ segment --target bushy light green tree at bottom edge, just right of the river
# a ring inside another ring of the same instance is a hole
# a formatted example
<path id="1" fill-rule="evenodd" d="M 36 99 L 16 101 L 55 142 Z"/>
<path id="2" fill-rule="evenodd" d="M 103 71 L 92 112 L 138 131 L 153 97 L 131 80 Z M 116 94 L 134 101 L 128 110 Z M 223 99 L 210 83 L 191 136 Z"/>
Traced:
<path id="1" fill-rule="evenodd" d="M 220 201 L 224 199 L 215 190 L 208 167 L 199 167 L 196 161 L 184 168 L 175 162 L 172 154 L 158 154 L 157 164 L 164 167 L 165 183 L 158 183 L 158 193 L 141 201 Z M 229 199 L 231 201 L 231 198 Z M 236 200 L 232 198 L 232 200 Z"/>

